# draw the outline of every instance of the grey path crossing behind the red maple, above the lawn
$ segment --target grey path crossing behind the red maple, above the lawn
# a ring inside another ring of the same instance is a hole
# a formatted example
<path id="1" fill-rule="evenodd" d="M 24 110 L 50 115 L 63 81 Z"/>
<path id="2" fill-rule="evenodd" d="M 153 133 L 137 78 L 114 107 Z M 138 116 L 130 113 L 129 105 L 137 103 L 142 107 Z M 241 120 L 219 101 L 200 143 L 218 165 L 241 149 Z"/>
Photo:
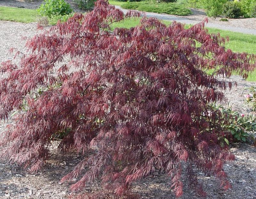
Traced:
<path id="1" fill-rule="evenodd" d="M 115 5 L 115 7 L 122 10 L 124 12 L 124 14 L 128 11 L 126 9 L 121 8 L 120 6 L 117 6 L 117 5 Z M 156 17 L 157 19 L 169 20 L 169 21 L 175 20 L 177 22 L 186 23 L 186 24 L 196 24 L 196 23 L 201 22 L 199 20 L 189 20 L 189 19 L 181 17 L 181 16 L 179 17 L 179 16 L 169 15 L 169 14 L 158 14 L 158 13 L 153 13 L 153 12 L 146 12 L 146 14 L 147 14 L 147 17 Z M 240 33 L 256 35 L 256 29 L 238 28 L 238 27 L 234 27 L 234 26 L 224 26 L 224 25 L 220 25 L 217 23 L 211 23 L 211 22 L 208 22 L 206 27 L 218 28 L 221 30 L 230 30 L 233 32 L 240 32 Z M 255 25 L 255 27 L 256 27 L 256 25 Z"/>

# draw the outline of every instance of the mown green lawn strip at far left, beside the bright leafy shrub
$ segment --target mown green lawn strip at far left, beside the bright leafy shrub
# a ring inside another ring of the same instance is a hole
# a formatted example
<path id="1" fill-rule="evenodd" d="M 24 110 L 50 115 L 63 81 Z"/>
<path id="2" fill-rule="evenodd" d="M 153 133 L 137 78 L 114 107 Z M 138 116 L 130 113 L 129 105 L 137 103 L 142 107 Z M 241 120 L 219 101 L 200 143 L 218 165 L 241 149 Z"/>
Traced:
<path id="1" fill-rule="evenodd" d="M 36 10 L 0 6 L 0 20 L 30 23 L 36 21 L 36 16 Z"/>

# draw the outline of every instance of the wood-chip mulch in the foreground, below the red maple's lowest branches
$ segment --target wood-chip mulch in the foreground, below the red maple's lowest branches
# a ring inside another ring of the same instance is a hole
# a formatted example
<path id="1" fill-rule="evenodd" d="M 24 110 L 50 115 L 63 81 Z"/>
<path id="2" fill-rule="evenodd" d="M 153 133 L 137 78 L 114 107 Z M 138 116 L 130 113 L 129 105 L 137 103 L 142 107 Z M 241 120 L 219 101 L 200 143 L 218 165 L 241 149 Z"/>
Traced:
<path id="1" fill-rule="evenodd" d="M 226 164 L 225 171 L 232 184 L 232 189 L 223 191 L 215 177 L 199 173 L 199 181 L 203 183 L 204 190 L 208 194 L 206 199 L 256 198 L 256 148 L 247 144 L 237 144 L 231 146 L 231 151 L 236 155 L 236 160 Z M 0 198 L 66 199 L 70 195 L 74 195 L 69 191 L 69 186 L 77 179 L 64 184 L 59 184 L 59 181 L 80 160 L 81 156 L 62 156 L 55 151 L 43 170 L 36 174 L 29 174 L 17 165 L 0 162 Z M 200 196 L 188 188 L 187 180 L 185 179 L 183 182 L 184 194 L 180 198 L 199 199 Z M 170 185 L 170 179 L 166 179 L 165 176 L 152 175 L 135 183 L 132 191 L 143 199 L 175 198 Z M 82 193 L 96 191 L 99 191 L 97 183 L 86 187 Z"/>

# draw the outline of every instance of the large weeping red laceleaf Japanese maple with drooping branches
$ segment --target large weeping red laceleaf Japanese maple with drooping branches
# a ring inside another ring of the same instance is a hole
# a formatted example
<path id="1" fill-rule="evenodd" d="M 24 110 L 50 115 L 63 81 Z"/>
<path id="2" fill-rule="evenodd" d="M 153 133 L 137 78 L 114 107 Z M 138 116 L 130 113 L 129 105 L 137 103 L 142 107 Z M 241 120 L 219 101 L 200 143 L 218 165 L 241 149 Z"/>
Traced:
<path id="1" fill-rule="evenodd" d="M 229 132 L 209 104 L 223 100 L 221 90 L 231 84 L 214 75 L 246 76 L 255 56 L 226 50 L 206 21 L 184 29 L 142 14 L 124 15 L 99 0 L 92 12 L 30 39 L 19 65 L 1 64 L 1 119 L 18 111 L 2 141 L 4 158 L 38 171 L 61 132 L 60 151 L 84 154 L 61 180 L 79 178 L 72 190 L 100 179 L 119 197 L 155 170 L 170 178 L 177 196 L 183 172 L 202 195 L 198 170 L 230 187 L 222 166 L 234 155 L 220 144 Z M 129 17 L 141 17 L 140 24 L 109 31 Z M 214 75 L 205 72 L 210 68 Z"/>

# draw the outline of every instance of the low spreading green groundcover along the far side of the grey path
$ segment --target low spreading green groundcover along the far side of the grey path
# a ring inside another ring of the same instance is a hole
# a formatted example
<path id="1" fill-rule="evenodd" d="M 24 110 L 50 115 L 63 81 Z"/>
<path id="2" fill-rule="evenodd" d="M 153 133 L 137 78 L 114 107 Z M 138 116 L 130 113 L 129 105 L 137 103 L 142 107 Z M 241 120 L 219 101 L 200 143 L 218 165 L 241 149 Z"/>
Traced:
<path id="1" fill-rule="evenodd" d="M 109 1 L 110 4 L 119 5 L 128 10 L 140 10 L 145 12 L 165 13 L 186 16 L 192 14 L 191 10 L 182 4 L 177 3 L 156 3 L 155 1 L 139 1 L 139 2 L 119 2 Z"/>

